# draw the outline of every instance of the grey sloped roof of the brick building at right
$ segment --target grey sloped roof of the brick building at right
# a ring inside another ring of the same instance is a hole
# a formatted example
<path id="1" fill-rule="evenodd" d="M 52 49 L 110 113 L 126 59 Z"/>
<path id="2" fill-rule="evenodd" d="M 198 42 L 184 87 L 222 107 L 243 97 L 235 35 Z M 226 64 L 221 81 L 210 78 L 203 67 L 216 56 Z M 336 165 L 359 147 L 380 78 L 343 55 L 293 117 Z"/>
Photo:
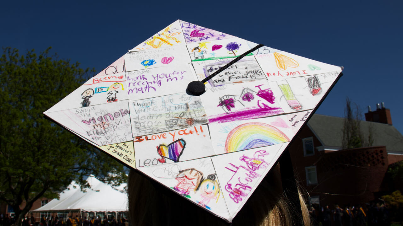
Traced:
<path id="1" fill-rule="evenodd" d="M 314 114 L 308 126 L 324 146 L 341 149 L 344 118 Z M 403 135 L 393 126 L 385 123 L 361 121 L 361 133 L 368 140 L 372 133 L 372 146 L 386 146 L 388 153 L 403 154 Z"/>

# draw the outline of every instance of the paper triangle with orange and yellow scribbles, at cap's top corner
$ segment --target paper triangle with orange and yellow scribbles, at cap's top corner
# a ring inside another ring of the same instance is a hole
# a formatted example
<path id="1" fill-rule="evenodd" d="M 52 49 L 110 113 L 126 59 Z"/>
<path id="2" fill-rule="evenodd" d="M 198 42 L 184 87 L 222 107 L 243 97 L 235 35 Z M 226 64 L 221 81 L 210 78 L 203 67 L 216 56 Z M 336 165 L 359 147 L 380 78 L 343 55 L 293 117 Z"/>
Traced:
<path id="1" fill-rule="evenodd" d="M 161 47 L 169 47 L 173 45 L 185 44 L 185 38 L 183 37 L 181 25 L 179 20 L 165 27 L 160 32 L 156 33 L 152 37 L 143 41 L 143 43 L 137 45 L 129 51 L 141 51 L 146 49 L 158 49 Z"/>

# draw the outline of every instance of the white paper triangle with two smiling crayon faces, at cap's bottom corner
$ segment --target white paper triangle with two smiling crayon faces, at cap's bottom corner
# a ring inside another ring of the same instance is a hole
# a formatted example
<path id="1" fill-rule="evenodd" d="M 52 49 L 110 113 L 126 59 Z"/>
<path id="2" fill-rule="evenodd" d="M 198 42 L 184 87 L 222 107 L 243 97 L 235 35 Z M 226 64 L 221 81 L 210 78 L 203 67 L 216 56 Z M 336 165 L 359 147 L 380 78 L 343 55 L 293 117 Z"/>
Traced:
<path id="1" fill-rule="evenodd" d="M 138 167 L 162 185 L 189 199 L 201 208 L 230 222 L 222 187 L 211 158 L 200 158 L 162 166 Z M 181 198 L 181 197 L 178 197 Z"/>

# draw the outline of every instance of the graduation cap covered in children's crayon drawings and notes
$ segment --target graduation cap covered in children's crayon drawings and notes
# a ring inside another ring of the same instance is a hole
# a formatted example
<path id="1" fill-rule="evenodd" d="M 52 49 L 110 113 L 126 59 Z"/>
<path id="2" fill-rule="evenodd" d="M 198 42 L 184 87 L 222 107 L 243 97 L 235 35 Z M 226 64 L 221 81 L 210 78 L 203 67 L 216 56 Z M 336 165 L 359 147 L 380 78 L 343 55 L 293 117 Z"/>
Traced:
<path id="1" fill-rule="evenodd" d="M 178 20 L 44 114 L 231 222 L 342 70 Z"/>

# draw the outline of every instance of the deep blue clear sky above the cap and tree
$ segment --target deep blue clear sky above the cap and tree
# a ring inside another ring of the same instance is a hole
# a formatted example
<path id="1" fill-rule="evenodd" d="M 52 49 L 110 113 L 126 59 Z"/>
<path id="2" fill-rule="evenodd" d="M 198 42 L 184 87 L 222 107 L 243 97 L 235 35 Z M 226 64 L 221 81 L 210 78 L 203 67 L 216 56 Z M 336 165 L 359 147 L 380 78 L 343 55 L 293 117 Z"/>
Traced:
<path id="1" fill-rule="evenodd" d="M 100 72 L 173 21 L 195 23 L 328 64 L 344 66 L 317 113 L 343 117 L 345 99 L 384 102 L 403 132 L 402 1 L 3 2 L 2 47 L 44 51 Z"/>

